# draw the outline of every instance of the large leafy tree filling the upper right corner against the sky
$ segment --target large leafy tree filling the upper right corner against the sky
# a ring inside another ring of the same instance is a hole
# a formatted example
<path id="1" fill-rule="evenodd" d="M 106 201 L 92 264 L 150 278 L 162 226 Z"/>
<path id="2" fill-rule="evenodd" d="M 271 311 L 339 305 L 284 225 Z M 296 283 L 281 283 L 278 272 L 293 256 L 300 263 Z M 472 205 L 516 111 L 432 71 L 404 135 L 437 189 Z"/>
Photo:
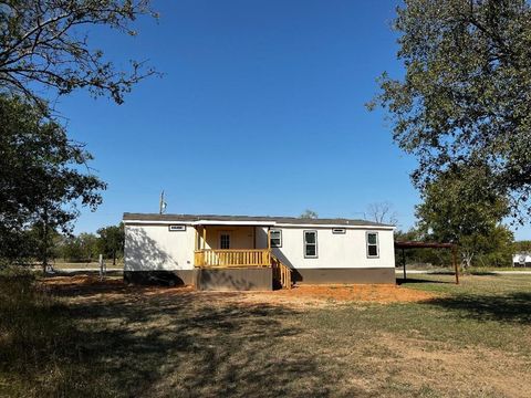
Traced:
<path id="1" fill-rule="evenodd" d="M 394 28 L 405 75 L 381 76 L 371 105 L 418 160 L 424 189 L 452 166 L 487 168 L 469 182 L 531 213 L 531 6 L 525 0 L 405 0 Z M 482 187 L 479 187 L 482 188 Z M 481 191 L 485 191 L 481 189 Z"/>

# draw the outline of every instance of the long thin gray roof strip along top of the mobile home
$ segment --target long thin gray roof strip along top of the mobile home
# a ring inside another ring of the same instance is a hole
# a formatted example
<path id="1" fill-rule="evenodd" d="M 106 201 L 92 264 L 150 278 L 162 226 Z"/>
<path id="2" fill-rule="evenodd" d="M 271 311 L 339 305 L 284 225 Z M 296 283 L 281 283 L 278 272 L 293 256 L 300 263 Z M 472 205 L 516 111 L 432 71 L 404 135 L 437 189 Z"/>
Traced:
<path id="1" fill-rule="evenodd" d="M 291 224 L 335 224 L 335 226 L 360 226 L 360 227 L 394 227 L 391 224 L 355 219 L 310 219 L 298 217 L 270 217 L 270 216 L 219 216 L 219 214 L 157 214 L 157 213 L 124 213 L 124 221 L 271 221 L 277 223 Z"/>

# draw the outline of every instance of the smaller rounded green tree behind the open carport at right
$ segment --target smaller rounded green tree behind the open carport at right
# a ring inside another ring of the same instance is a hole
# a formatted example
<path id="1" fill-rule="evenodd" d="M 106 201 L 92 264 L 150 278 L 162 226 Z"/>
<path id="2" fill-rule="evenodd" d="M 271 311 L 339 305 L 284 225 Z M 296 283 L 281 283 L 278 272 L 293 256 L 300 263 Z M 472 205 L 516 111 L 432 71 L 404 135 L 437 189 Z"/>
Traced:
<path id="1" fill-rule="evenodd" d="M 421 238 L 456 243 L 466 266 L 489 255 L 499 265 L 512 247 L 512 233 L 501 223 L 509 212 L 507 199 L 486 187 L 486 172 L 458 169 L 440 175 L 426 186 L 416 208 Z"/>

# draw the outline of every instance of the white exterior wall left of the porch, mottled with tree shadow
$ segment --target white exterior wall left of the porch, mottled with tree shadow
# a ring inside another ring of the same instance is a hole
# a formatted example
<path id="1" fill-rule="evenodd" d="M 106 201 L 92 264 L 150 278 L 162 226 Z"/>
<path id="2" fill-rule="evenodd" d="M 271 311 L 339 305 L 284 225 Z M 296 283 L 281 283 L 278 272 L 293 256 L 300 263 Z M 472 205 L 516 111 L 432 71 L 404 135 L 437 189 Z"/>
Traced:
<path id="1" fill-rule="evenodd" d="M 166 224 L 125 224 L 125 271 L 194 269 L 196 230 L 169 231 Z"/>

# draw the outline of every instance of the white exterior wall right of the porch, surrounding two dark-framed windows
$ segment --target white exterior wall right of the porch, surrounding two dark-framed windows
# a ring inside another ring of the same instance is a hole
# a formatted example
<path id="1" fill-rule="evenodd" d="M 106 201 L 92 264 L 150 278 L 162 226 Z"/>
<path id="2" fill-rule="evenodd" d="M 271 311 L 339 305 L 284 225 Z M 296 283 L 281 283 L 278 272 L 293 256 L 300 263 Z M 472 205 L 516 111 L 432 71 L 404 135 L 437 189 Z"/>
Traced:
<path id="1" fill-rule="evenodd" d="M 274 227 L 282 230 L 282 248 L 273 254 L 295 269 L 395 268 L 393 230 L 346 229 L 344 234 L 332 233 L 332 228 Z M 317 258 L 304 258 L 303 231 L 317 231 Z M 378 258 L 367 258 L 366 232 L 378 233 Z M 267 244 L 267 229 L 257 233 L 257 245 Z"/>

